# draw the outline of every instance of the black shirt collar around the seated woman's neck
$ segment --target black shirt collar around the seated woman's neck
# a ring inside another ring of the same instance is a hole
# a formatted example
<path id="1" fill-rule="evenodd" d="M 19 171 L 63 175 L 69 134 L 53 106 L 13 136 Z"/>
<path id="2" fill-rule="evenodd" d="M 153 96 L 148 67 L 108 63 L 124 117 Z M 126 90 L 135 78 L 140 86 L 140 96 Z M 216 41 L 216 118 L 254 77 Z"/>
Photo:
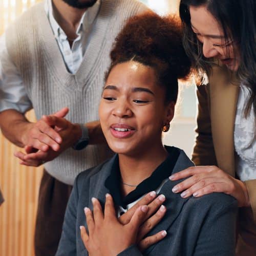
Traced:
<path id="1" fill-rule="evenodd" d="M 124 198 L 122 198 L 121 194 L 121 174 L 118 155 L 116 155 L 110 175 L 106 178 L 104 184 L 105 187 L 109 189 L 115 205 L 120 205 L 126 209 L 126 205 L 138 200 L 150 191 L 156 190 L 165 179 L 172 175 L 180 151 L 174 146 L 165 146 L 165 149 L 168 152 L 166 159 L 154 170 L 150 177 L 138 184 L 138 186 Z"/>

